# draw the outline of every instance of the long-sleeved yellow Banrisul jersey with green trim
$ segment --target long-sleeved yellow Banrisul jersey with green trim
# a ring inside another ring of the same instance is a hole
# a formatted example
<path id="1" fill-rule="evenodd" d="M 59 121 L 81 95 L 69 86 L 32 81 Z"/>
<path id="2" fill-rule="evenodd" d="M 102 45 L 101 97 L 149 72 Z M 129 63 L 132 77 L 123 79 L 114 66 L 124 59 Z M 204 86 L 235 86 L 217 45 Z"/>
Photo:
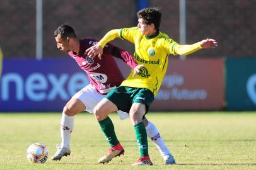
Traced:
<path id="1" fill-rule="evenodd" d="M 133 71 L 131 71 L 120 86 L 147 88 L 154 93 L 154 96 L 158 93 L 165 76 L 168 55 L 187 55 L 201 49 L 199 43 L 180 45 L 161 31 L 157 31 L 151 37 L 141 35 L 141 31 L 137 27 L 109 31 L 98 44 L 104 47 L 107 42 L 116 37 L 134 43 L 134 59 L 137 64 L 143 64 L 135 77 L 132 77 Z"/>

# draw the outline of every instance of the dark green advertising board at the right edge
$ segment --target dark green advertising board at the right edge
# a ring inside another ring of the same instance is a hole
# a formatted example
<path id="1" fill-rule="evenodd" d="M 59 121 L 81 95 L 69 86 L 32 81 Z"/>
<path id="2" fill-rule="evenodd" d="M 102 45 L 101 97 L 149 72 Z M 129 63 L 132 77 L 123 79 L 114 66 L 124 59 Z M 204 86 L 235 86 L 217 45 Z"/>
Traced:
<path id="1" fill-rule="evenodd" d="M 256 110 L 256 59 L 226 59 L 227 110 Z"/>

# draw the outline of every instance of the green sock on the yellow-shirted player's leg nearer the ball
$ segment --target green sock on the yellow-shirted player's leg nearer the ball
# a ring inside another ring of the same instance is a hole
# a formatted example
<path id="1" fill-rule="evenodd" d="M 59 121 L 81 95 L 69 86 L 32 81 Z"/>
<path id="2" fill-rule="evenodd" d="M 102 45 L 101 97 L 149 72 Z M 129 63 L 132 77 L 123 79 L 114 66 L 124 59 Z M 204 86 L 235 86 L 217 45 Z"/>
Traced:
<path id="1" fill-rule="evenodd" d="M 99 121 L 98 123 L 100 124 L 102 132 L 108 140 L 108 143 L 111 146 L 117 145 L 119 143 L 119 140 L 117 140 L 117 136 L 115 135 L 115 129 L 113 127 L 111 119 L 107 117 L 104 120 Z"/>

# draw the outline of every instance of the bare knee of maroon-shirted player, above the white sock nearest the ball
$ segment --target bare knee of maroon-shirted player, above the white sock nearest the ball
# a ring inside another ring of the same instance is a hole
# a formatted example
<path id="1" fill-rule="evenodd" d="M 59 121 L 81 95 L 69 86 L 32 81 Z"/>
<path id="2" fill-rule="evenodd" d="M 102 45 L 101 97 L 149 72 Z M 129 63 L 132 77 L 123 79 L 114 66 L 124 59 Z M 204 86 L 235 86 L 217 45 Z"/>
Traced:
<path id="1" fill-rule="evenodd" d="M 84 104 L 77 98 L 71 98 L 64 107 L 64 113 L 69 116 L 74 116 L 84 110 Z"/>

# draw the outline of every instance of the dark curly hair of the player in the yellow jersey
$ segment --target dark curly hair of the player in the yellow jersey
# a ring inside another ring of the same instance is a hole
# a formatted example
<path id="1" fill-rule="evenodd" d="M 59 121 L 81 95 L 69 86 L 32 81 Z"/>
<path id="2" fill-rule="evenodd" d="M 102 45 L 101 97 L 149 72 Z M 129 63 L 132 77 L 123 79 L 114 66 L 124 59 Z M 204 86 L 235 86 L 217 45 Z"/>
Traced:
<path id="1" fill-rule="evenodd" d="M 147 25 L 153 23 L 156 30 L 159 30 L 161 16 L 162 14 L 158 8 L 144 8 L 137 12 L 137 18 L 143 18 Z"/>

